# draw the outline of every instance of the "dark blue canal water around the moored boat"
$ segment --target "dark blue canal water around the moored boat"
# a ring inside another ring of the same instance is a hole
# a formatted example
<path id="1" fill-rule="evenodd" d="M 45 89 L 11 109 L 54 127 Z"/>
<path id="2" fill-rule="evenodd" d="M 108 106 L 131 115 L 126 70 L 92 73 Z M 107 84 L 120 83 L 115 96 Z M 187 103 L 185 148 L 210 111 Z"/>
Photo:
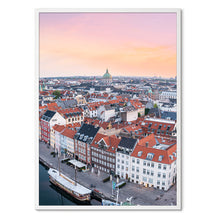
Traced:
<path id="1" fill-rule="evenodd" d="M 50 183 L 47 172 L 48 169 L 39 163 L 39 206 L 101 205 L 100 202 L 94 199 L 87 204 L 79 203 L 63 190 L 60 190 Z"/>

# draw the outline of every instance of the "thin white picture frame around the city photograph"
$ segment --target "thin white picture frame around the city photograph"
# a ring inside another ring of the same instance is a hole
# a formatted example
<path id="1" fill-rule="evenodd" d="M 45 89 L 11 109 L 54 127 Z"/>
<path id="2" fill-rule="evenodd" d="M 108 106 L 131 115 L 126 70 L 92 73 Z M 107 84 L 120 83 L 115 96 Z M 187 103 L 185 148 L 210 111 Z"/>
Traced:
<path id="1" fill-rule="evenodd" d="M 176 206 L 40 206 L 39 205 L 39 14 L 40 13 L 176 13 L 177 15 L 177 205 Z M 181 9 L 169 8 L 98 8 L 98 9 L 35 9 L 35 209 L 36 210 L 74 210 L 74 211 L 147 211 L 182 210 L 182 18 Z"/>

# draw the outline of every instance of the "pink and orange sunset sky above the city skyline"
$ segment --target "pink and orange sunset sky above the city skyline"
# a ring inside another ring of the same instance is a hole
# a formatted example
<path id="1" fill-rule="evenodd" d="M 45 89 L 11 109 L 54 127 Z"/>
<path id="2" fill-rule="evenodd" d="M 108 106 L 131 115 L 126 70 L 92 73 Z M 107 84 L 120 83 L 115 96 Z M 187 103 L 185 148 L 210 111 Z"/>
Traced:
<path id="1" fill-rule="evenodd" d="M 176 76 L 176 13 L 40 13 L 40 77 Z"/>

